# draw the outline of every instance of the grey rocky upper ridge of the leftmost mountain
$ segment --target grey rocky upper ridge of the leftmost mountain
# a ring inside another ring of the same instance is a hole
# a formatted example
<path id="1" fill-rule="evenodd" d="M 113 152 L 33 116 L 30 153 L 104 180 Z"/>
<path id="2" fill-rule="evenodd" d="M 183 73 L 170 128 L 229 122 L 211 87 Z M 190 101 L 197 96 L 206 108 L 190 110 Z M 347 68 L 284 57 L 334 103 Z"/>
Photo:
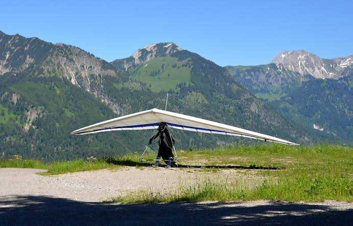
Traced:
<path id="1" fill-rule="evenodd" d="M 38 38 L 0 33 L 0 75 L 33 70 L 37 76 L 59 76 L 86 91 L 95 89 L 91 80 L 118 76 L 120 71 L 108 62 L 78 47 L 52 44 Z"/>

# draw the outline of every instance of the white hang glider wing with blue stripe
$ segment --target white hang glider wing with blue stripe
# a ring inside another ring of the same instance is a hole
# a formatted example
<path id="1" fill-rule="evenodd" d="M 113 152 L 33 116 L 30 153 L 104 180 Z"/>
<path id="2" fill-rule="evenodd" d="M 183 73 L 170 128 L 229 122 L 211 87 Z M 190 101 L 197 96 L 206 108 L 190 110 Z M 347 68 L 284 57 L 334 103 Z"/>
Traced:
<path id="1" fill-rule="evenodd" d="M 175 129 L 241 136 L 286 145 L 298 145 L 274 136 L 156 108 L 96 123 L 75 130 L 71 134 L 88 134 L 116 130 L 157 129 L 158 123 L 160 122 L 167 123 L 169 127 Z"/>

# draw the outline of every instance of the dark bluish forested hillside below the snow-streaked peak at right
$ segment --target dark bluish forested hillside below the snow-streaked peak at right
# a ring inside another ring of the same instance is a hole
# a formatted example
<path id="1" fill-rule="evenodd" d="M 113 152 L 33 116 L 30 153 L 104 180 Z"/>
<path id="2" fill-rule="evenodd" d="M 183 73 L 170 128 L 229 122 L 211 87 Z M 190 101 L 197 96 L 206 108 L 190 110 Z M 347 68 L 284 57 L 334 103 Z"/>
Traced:
<path id="1" fill-rule="evenodd" d="M 352 142 L 353 75 L 315 79 L 271 104 L 298 123 Z"/>

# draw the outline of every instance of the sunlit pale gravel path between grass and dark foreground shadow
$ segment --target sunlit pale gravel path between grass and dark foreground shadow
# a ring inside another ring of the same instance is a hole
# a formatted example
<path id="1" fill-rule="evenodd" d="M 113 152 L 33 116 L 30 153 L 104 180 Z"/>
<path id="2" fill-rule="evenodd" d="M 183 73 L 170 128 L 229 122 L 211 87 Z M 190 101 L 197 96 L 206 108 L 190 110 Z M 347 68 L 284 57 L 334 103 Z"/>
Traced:
<path id="1" fill-rule="evenodd" d="M 250 184 L 261 177 L 244 171 L 222 170 L 203 172 L 173 168 L 126 167 L 120 170 L 99 170 L 68 173 L 59 176 L 40 176 L 43 170 L 0 168 L 0 197 L 9 195 L 45 195 L 85 202 L 100 202 L 129 191 L 149 190 L 160 193 L 176 190 L 180 183 L 201 179 L 243 180 Z M 197 172 L 195 174 L 195 172 Z"/>

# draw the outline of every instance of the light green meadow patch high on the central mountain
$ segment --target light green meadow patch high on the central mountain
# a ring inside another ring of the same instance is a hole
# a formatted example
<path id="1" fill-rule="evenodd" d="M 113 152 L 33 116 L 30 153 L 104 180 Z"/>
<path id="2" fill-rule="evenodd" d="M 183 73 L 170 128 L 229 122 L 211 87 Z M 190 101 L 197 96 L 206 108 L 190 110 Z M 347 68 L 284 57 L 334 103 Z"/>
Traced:
<path id="1" fill-rule="evenodd" d="M 178 83 L 190 83 L 191 68 L 184 65 L 186 62 L 179 62 L 170 56 L 159 57 L 148 61 L 131 74 L 151 86 L 154 92 L 168 91 L 175 89 Z"/>

